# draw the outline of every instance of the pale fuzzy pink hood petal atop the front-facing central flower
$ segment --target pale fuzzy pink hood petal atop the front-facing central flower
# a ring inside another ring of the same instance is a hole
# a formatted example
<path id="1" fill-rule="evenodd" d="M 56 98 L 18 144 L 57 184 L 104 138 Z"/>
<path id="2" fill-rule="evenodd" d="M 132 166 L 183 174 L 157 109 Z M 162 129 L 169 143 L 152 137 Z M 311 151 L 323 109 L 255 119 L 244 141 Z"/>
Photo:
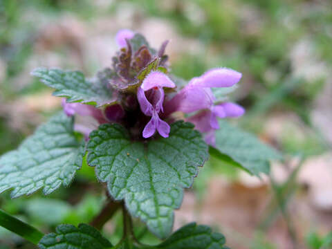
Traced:
<path id="1" fill-rule="evenodd" d="M 144 91 L 148 91 L 153 89 L 154 87 L 170 87 L 174 88 L 175 84 L 165 73 L 161 73 L 158 71 L 152 71 L 145 77 L 140 86 Z"/>

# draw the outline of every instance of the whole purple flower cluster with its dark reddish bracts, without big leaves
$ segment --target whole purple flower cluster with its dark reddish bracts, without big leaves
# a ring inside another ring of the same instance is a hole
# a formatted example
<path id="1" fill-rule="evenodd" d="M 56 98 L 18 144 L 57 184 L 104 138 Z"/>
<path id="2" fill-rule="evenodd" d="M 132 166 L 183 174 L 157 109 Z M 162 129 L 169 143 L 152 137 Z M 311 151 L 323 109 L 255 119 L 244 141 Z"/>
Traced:
<path id="1" fill-rule="evenodd" d="M 150 138 L 156 133 L 167 138 L 174 113 L 185 113 L 185 120 L 205 133 L 205 141 L 215 144 L 214 131 L 219 129 L 217 118 L 237 118 L 244 109 L 238 104 L 217 100 L 212 89 L 237 84 L 241 73 L 229 68 L 214 68 L 194 77 L 181 89 L 169 74 L 164 42 L 158 51 L 149 48 L 141 35 L 120 30 L 116 35 L 120 51 L 113 57 L 113 68 L 101 72 L 100 80 L 116 95 L 114 104 L 98 109 L 91 105 L 63 102 L 68 116 L 77 113 L 98 121 L 118 122 L 129 129 L 133 138 Z M 89 137 L 91 129 L 77 126 Z"/>

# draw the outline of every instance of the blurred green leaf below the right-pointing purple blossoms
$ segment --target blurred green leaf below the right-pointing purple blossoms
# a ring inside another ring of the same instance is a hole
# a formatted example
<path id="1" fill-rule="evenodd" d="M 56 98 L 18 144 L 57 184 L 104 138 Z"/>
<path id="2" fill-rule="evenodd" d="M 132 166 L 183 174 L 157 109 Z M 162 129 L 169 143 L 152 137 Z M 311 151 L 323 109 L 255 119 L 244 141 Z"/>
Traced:
<path id="1" fill-rule="evenodd" d="M 281 159 L 278 151 L 264 145 L 252 134 L 232 127 L 220 120 L 220 129 L 216 131 L 216 149 L 229 156 L 251 174 L 259 175 L 270 172 L 270 160 Z M 234 163 L 228 160 L 228 163 Z M 236 165 L 238 166 L 238 165 Z"/>

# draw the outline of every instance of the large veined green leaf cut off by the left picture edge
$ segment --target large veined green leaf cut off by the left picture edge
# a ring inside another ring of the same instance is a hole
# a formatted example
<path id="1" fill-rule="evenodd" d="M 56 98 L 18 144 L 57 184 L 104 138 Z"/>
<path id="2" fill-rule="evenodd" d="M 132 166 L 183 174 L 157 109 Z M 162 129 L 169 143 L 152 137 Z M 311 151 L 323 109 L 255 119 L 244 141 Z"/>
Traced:
<path id="1" fill-rule="evenodd" d="M 50 194 L 69 185 L 82 166 L 84 145 L 73 131 L 73 118 L 59 113 L 40 126 L 17 150 L 0 157 L 0 192 L 14 188 L 12 198 L 44 188 Z"/>

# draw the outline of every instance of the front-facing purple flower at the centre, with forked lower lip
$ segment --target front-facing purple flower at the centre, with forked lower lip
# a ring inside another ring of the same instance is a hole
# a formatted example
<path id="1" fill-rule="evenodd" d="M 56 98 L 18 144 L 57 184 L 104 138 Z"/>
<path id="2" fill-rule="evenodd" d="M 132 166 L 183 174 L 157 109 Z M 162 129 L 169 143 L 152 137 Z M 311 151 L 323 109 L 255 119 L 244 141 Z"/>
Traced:
<path id="1" fill-rule="evenodd" d="M 156 130 L 164 138 L 168 137 L 169 124 L 159 118 L 158 113 L 163 112 L 163 102 L 165 93 L 163 87 L 174 88 L 175 84 L 164 73 L 152 71 L 145 77 L 138 88 L 137 98 L 140 103 L 140 109 L 151 120 L 143 130 L 143 138 L 149 138 L 154 135 Z"/>

